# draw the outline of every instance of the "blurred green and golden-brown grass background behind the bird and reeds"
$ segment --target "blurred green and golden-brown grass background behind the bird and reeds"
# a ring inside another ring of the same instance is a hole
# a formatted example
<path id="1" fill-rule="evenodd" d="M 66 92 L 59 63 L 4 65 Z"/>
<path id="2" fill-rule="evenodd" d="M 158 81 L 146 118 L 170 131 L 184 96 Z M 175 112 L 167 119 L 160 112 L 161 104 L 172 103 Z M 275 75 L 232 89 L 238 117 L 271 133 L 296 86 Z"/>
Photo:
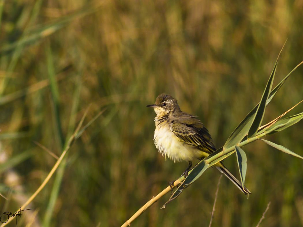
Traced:
<path id="1" fill-rule="evenodd" d="M 145 106 L 171 94 L 222 146 L 260 100 L 287 38 L 274 86 L 302 61 L 302 12 L 300 0 L 0 0 L 1 211 L 18 209 L 56 162 L 34 141 L 60 156 L 91 105 L 86 123 L 106 110 L 18 225 L 122 225 L 187 166 L 158 153 L 155 113 Z M 264 123 L 302 99 L 302 73 L 281 88 Z M 303 155 L 302 126 L 268 139 Z M 258 141 L 243 149 L 252 194 L 222 179 L 212 226 L 255 226 L 269 201 L 262 226 L 303 226 L 302 161 Z M 238 176 L 235 155 L 225 165 Z M 208 226 L 218 178 L 206 171 L 132 226 Z"/>

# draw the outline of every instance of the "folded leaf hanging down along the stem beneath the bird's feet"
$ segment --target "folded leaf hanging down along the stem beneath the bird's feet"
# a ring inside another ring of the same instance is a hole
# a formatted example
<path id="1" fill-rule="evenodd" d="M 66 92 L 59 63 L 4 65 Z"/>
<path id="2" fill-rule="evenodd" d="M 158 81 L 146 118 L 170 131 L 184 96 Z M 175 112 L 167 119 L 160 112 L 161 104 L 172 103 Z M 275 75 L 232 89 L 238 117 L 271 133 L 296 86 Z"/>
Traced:
<path id="1" fill-rule="evenodd" d="M 179 185 L 178 189 L 175 190 L 175 192 L 171 195 L 171 197 L 168 199 L 167 202 L 165 202 L 165 204 L 161 207 L 161 208 L 165 208 L 165 206 L 171 202 L 172 200 L 176 199 L 181 192 L 187 188 L 190 184 L 192 184 L 196 179 L 198 179 L 202 173 L 204 173 L 204 171 L 209 167 L 209 164 L 206 163 L 205 161 L 201 161 L 199 163 L 199 165 L 195 166 L 195 168 L 193 168 L 190 173 L 188 174 L 188 176 L 185 178 L 185 180 Z"/>

